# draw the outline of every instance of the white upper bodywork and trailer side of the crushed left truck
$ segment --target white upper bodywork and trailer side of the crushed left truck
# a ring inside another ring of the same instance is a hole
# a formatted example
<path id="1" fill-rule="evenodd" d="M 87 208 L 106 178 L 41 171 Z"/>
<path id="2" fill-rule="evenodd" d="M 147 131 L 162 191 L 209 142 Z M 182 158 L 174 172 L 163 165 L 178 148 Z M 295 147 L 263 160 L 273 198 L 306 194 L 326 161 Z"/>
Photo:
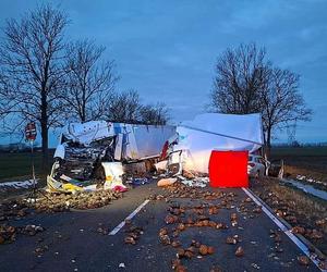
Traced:
<path id="1" fill-rule="evenodd" d="M 165 141 L 174 134 L 175 126 L 171 125 L 136 125 L 106 121 L 69 123 L 62 128 L 55 158 L 65 159 L 70 144 L 77 143 L 92 149 L 94 143 L 116 137 L 116 160 L 142 160 L 160 156 Z"/>

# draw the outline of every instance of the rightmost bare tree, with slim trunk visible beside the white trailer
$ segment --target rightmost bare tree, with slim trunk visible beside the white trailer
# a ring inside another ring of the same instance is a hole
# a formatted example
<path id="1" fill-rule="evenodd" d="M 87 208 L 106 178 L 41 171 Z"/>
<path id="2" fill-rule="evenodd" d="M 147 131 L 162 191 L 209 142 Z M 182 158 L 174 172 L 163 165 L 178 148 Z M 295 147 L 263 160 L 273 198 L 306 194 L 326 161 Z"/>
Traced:
<path id="1" fill-rule="evenodd" d="M 306 108 L 303 96 L 299 92 L 299 75 L 279 67 L 270 69 L 268 74 L 261 104 L 265 143 L 269 153 L 274 129 L 286 128 L 296 121 L 310 121 L 312 110 Z"/>

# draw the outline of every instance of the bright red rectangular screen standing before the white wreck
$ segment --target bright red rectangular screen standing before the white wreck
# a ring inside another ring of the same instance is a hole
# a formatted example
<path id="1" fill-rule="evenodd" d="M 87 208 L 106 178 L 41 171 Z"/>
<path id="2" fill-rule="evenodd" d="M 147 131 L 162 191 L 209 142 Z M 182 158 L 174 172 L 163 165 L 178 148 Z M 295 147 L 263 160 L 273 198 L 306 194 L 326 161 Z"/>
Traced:
<path id="1" fill-rule="evenodd" d="M 249 187 L 249 151 L 213 151 L 209 160 L 211 187 Z"/>

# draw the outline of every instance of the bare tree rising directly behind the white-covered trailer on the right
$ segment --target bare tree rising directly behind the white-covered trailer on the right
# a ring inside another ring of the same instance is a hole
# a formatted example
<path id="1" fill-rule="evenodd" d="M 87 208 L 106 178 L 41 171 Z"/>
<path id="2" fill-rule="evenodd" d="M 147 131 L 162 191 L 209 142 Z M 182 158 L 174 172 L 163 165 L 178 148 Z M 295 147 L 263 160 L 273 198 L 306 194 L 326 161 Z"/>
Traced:
<path id="1" fill-rule="evenodd" d="M 218 59 L 211 106 L 223 113 L 246 114 L 261 109 L 259 95 L 266 83 L 265 49 L 255 44 L 227 49 Z"/>

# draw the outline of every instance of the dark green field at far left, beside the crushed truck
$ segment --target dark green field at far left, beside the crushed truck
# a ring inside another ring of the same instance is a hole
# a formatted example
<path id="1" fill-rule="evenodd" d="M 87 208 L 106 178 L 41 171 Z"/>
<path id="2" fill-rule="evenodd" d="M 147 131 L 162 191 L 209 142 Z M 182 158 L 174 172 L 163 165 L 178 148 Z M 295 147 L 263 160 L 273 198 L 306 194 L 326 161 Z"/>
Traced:
<path id="1" fill-rule="evenodd" d="M 41 153 L 34 153 L 35 172 L 38 176 L 45 176 L 49 170 L 41 171 Z M 49 158 L 52 163 L 52 154 Z M 21 177 L 28 177 L 32 175 L 31 153 L 0 153 L 0 182 L 7 180 L 14 180 Z"/>

